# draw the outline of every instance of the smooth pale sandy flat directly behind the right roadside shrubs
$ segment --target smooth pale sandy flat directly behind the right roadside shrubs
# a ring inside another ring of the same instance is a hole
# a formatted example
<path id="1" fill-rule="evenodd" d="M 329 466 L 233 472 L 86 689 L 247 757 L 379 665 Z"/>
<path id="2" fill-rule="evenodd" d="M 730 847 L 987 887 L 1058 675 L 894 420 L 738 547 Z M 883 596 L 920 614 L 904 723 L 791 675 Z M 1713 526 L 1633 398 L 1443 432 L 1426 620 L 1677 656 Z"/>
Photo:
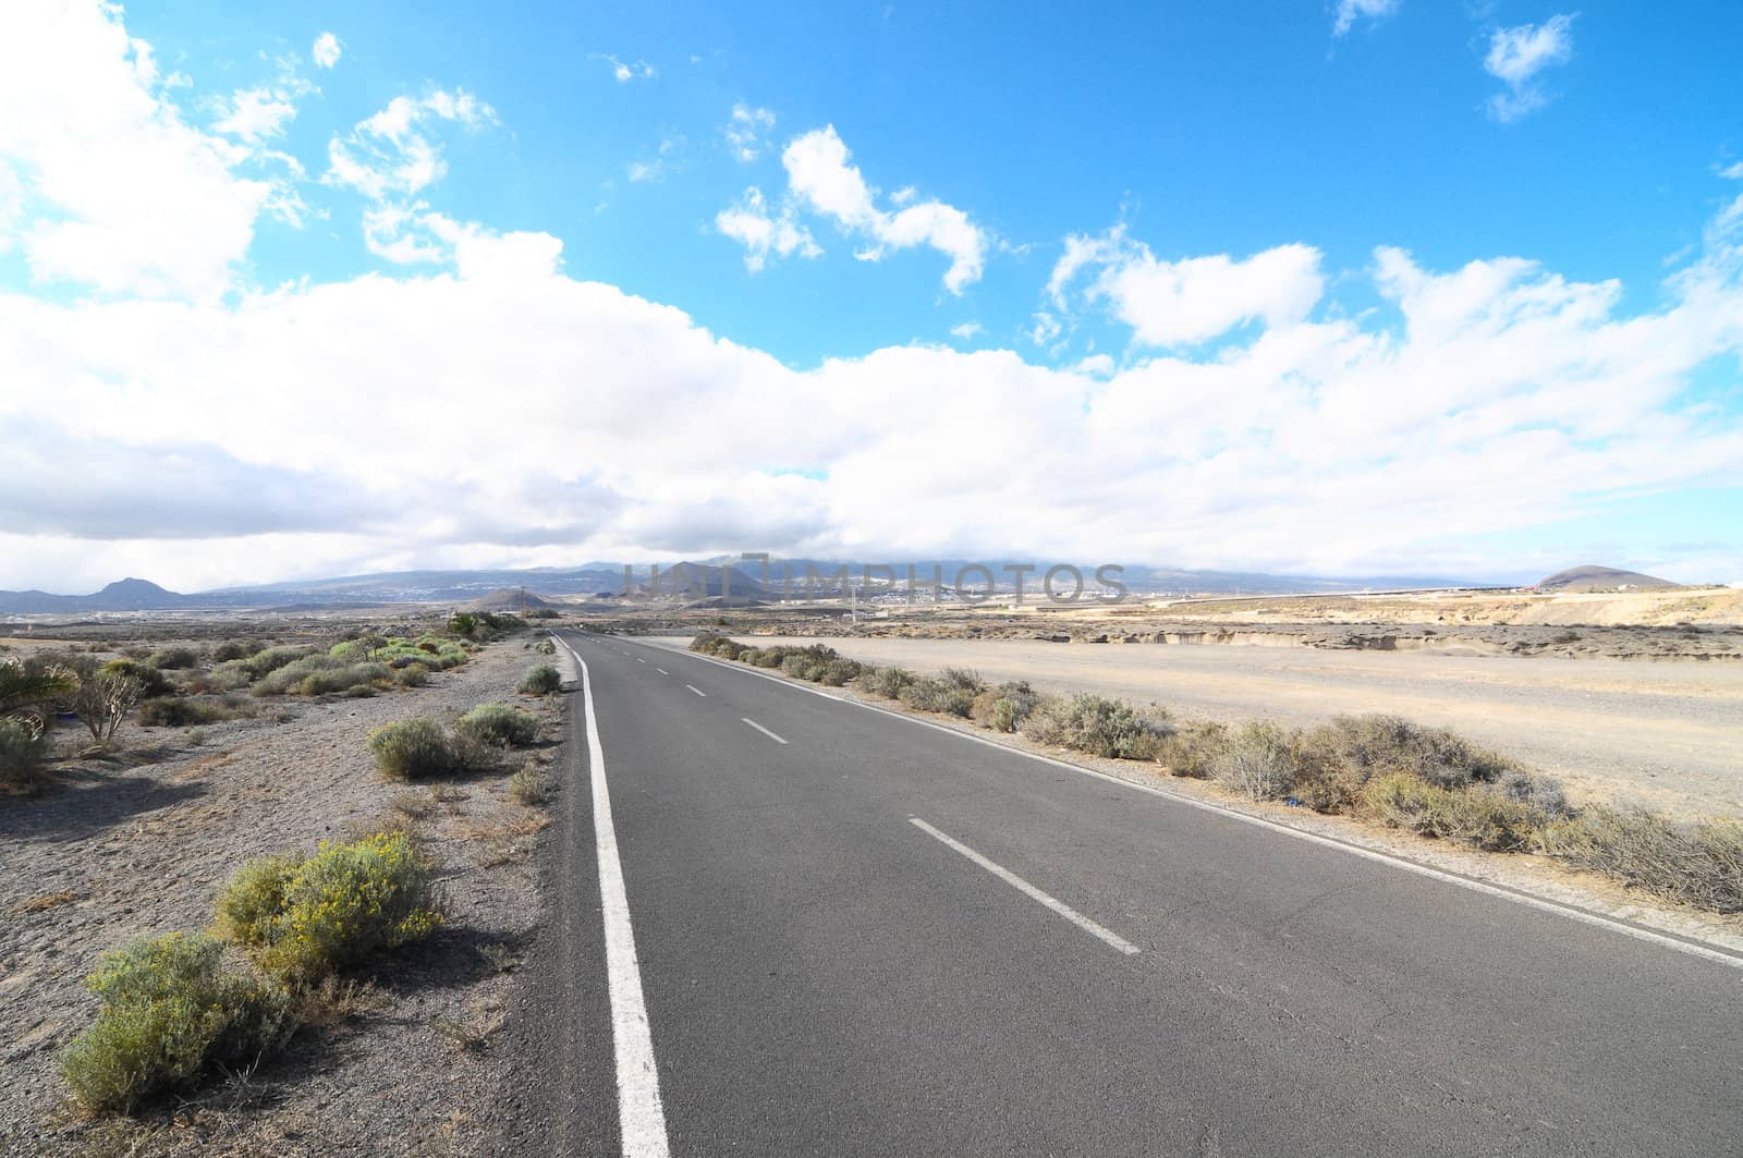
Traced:
<path id="1" fill-rule="evenodd" d="M 995 680 L 1095 691 L 1215 720 L 1314 724 L 1386 712 L 1454 727 L 1560 776 L 1577 799 L 1743 816 L 1743 664 L 1734 663 L 887 637 L 816 642 L 866 663 L 974 668 Z"/>

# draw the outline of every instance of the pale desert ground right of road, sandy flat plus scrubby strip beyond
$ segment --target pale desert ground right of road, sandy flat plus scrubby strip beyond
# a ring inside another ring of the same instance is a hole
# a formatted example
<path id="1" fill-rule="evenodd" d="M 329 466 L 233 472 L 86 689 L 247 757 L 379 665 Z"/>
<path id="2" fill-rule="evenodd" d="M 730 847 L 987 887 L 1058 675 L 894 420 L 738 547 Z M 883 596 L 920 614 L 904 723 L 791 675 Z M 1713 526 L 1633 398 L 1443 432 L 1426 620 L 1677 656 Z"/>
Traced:
<path id="1" fill-rule="evenodd" d="M 1367 616 L 1367 617 L 1360 617 Z M 1699 617 L 1699 623 L 1694 619 Z M 1455 729 L 1583 800 L 1743 816 L 1743 591 L 1250 598 L 1122 607 L 751 609 L 624 619 L 821 642 L 1220 722 L 1389 713 Z"/>

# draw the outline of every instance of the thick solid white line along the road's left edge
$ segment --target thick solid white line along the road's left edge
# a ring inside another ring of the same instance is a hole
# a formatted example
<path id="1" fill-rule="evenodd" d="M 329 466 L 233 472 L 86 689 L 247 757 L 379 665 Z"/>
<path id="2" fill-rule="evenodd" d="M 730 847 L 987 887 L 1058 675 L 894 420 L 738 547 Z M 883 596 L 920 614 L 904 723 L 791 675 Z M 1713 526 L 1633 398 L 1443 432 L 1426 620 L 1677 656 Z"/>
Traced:
<path id="1" fill-rule="evenodd" d="M 612 1045 L 617 1050 L 617 1123 L 624 1158 L 666 1158 L 666 1111 L 659 1100 L 659 1069 L 654 1066 L 654 1036 L 641 996 L 641 966 L 636 935 L 629 926 L 629 896 L 624 865 L 617 858 L 612 827 L 612 795 L 605 785 L 605 753 L 600 750 L 600 720 L 593 710 L 593 675 L 587 661 L 566 642 L 580 664 L 580 694 L 587 712 L 587 766 L 593 776 L 593 842 L 600 849 L 600 907 L 605 916 L 605 971 L 612 999 Z"/>

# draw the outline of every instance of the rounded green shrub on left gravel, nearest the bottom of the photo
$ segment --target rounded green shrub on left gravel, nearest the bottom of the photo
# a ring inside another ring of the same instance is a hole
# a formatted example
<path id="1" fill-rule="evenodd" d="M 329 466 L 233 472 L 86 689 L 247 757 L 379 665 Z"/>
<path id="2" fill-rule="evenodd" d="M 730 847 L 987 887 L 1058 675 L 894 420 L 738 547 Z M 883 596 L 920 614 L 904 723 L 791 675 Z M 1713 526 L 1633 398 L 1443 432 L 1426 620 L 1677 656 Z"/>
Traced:
<path id="1" fill-rule="evenodd" d="M 288 994 L 225 970 L 221 957 L 223 945 L 202 933 L 138 938 L 105 954 L 87 982 L 103 1008 L 61 1062 L 85 1109 L 127 1113 L 289 1038 Z"/>

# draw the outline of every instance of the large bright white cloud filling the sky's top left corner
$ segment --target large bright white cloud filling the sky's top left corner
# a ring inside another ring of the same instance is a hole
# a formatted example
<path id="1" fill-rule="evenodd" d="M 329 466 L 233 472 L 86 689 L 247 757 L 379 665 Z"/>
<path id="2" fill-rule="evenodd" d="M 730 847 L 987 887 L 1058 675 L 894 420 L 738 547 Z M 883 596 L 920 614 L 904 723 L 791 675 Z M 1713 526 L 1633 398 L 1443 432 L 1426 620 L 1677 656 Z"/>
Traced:
<path id="1" fill-rule="evenodd" d="M 272 195 L 248 153 L 162 99 L 152 45 L 113 7 L 7 5 L 0 17 L 7 246 L 37 281 L 213 296 L 230 286 Z"/>

